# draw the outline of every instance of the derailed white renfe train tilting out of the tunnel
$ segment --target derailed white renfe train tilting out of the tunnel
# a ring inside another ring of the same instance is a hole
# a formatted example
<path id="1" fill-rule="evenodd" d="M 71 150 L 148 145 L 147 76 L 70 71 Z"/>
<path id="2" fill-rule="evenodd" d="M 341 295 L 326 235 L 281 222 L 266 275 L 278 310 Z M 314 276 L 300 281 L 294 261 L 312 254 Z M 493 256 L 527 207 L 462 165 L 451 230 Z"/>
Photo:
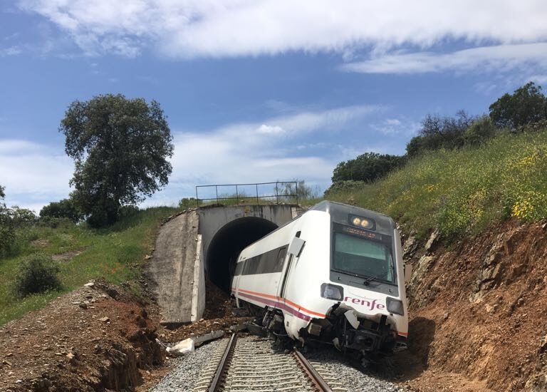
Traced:
<path id="1" fill-rule="evenodd" d="M 273 334 L 367 358 L 407 347 L 404 275 L 390 217 L 325 201 L 243 249 L 231 292 Z"/>

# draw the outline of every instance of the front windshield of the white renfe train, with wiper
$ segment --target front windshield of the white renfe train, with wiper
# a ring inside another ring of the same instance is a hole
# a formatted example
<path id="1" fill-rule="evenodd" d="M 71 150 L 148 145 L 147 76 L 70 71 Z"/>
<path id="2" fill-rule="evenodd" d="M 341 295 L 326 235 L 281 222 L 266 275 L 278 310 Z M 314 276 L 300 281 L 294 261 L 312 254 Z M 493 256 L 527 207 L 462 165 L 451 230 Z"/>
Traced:
<path id="1" fill-rule="evenodd" d="M 393 282 L 391 244 L 334 232 L 333 269 Z"/>

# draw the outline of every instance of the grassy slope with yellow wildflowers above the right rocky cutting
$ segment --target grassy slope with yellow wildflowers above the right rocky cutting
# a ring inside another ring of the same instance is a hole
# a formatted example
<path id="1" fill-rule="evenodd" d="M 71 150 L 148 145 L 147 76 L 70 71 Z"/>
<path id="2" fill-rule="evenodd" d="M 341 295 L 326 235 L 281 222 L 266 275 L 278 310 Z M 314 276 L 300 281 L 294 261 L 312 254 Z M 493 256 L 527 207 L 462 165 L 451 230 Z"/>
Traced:
<path id="1" fill-rule="evenodd" d="M 462 150 L 412 160 L 372 185 L 335 192 L 330 200 L 384 212 L 423 236 L 476 234 L 491 222 L 547 217 L 547 130 L 503 133 Z"/>

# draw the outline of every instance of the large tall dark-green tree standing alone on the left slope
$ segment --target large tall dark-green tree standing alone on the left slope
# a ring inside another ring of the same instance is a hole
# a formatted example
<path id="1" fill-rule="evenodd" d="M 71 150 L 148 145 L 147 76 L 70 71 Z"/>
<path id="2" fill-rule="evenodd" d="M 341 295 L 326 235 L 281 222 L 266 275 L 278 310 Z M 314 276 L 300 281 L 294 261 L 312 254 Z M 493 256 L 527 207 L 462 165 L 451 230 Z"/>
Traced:
<path id="1" fill-rule="evenodd" d="M 155 100 L 148 104 L 120 94 L 75 100 L 59 130 L 75 160 L 73 200 L 93 227 L 112 224 L 120 207 L 167 185 L 172 135 Z"/>

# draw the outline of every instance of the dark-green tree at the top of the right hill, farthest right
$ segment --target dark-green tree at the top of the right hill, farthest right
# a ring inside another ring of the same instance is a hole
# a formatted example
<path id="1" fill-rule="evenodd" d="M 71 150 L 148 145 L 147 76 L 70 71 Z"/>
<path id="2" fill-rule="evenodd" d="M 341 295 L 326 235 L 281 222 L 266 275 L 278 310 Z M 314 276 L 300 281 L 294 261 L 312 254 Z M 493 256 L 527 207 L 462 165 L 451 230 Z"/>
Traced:
<path id="1" fill-rule="evenodd" d="M 499 128 L 513 130 L 547 119 L 547 98 L 541 86 L 528 82 L 490 105 L 490 118 Z"/>

